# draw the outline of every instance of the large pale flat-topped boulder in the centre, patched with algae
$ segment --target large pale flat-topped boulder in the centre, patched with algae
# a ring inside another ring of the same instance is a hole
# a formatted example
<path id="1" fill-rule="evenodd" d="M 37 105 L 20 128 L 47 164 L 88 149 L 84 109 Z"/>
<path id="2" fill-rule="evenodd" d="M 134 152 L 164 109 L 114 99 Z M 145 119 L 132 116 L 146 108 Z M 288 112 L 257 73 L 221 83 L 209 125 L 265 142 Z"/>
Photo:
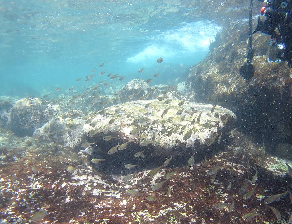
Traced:
<path id="1" fill-rule="evenodd" d="M 149 103 L 151 103 L 149 107 L 145 108 L 145 105 Z M 180 156 L 186 152 L 190 153 L 207 147 L 206 142 L 212 136 L 216 133 L 225 135 L 235 124 L 236 115 L 226 108 L 217 106 L 212 113 L 211 109 L 214 105 L 185 102 L 179 106 L 179 103 L 177 100 L 172 100 L 168 104 L 159 100 L 143 100 L 115 105 L 107 108 L 105 113 L 104 110 L 98 112 L 92 120 L 92 122 L 97 122 L 96 126 L 91 127 L 85 124 L 84 133 L 87 135 L 88 142 L 99 142 L 98 145 L 101 148 L 104 145 L 104 152 L 109 150 L 109 142 L 102 138 L 113 136 L 117 139 L 111 140 L 112 146 L 131 140 L 133 152 L 145 149 L 145 155 Z M 120 112 L 116 112 L 120 108 Z M 162 113 L 167 109 L 168 112 L 162 117 Z M 184 110 L 180 114 L 179 111 L 182 109 Z M 228 115 L 224 128 L 223 123 Z M 198 120 L 199 116 L 200 120 Z M 195 123 L 191 124 L 194 119 Z M 185 129 L 181 130 L 184 126 Z M 138 134 L 132 133 L 139 127 L 141 130 Z M 117 129 L 117 131 L 111 131 L 111 129 Z M 191 129 L 193 129 L 192 134 L 187 138 L 186 133 L 190 133 Z M 96 130 L 95 134 L 92 134 L 93 130 Z M 154 133 L 155 138 L 153 138 Z M 218 138 L 215 140 L 216 145 L 217 140 Z M 149 143 L 148 146 L 145 146 L 147 143 Z"/>

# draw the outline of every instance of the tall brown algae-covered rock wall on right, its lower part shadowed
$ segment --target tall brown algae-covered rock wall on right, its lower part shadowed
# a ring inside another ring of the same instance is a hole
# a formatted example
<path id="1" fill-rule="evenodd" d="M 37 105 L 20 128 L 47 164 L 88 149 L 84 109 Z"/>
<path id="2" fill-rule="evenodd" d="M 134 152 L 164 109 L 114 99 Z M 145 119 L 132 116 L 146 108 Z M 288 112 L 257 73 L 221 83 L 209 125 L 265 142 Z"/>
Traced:
<path id="1" fill-rule="evenodd" d="M 267 61 L 268 39 L 253 35 L 256 70 L 252 79 L 244 80 L 239 69 L 247 58 L 248 22 L 231 23 L 213 44 L 214 50 L 191 68 L 186 88 L 190 100 L 219 103 L 232 110 L 240 130 L 257 142 L 265 138 L 274 147 L 281 141 L 292 144 L 292 70 L 285 61 Z"/>

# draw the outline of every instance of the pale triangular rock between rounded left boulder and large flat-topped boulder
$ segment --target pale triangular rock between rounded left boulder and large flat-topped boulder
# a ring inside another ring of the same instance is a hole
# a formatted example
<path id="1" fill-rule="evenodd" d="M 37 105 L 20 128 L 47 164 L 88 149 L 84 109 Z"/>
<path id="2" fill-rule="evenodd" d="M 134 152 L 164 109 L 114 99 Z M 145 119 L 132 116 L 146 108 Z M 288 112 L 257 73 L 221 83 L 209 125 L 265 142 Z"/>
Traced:
<path id="1" fill-rule="evenodd" d="M 78 116 L 78 117 L 77 117 Z M 41 128 L 37 128 L 32 137 L 46 139 L 50 142 L 59 143 L 77 150 L 83 150 L 80 146 L 85 141 L 83 135 L 84 121 L 81 119 L 83 113 L 80 110 L 72 110 L 50 119 Z M 76 129 L 70 130 L 66 124 L 80 124 Z M 67 132 L 66 132 L 67 130 Z"/>

